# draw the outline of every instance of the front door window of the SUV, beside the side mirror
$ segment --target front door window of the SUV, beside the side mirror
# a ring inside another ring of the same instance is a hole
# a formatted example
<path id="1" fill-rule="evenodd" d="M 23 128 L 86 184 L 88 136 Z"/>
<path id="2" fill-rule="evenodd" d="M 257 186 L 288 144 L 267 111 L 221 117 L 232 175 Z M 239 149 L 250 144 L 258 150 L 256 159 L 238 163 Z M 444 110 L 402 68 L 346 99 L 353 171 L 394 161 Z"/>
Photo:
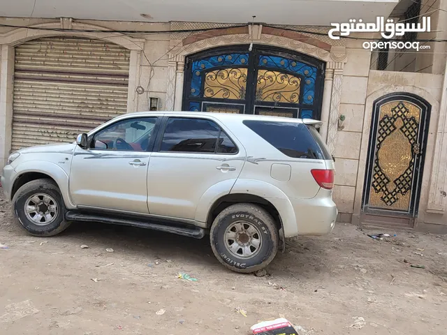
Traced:
<path id="1" fill-rule="evenodd" d="M 117 121 L 96 133 L 91 148 L 119 151 L 147 151 L 156 117 Z"/>

